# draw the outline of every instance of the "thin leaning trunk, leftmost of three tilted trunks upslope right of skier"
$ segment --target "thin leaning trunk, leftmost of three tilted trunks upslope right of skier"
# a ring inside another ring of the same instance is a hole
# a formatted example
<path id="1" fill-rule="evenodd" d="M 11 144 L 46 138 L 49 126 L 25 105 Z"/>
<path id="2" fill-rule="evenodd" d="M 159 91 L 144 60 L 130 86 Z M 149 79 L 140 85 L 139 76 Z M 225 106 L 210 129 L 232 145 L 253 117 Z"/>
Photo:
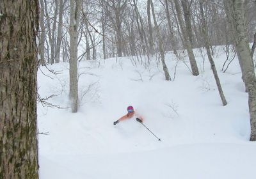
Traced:
<path id="1" fill-rule="evenodd" d="M 165 60 L 164 60 L 163 40 L 160 35 L 159 27 L 157 26 L 156 15 L 154 12 L 154 4 L 153 4 L 152 0 L 150 0 L 150 4 L 151 4 L 152 15 L 153 15 L 153 19 L 154 19 L 155 28 L 156 28 L 157 38 L 158 38 L 158 47 L 159 47 L 159 52 L 160 52 L 161 61 L 162 61 L 162 65 L 163 65 L 164 76 L 165 76 L 166 81 L 171 81 L 172 79 L 170 77 L 168 68 L 167 68 L 167 66 L 165 64 Z"/>

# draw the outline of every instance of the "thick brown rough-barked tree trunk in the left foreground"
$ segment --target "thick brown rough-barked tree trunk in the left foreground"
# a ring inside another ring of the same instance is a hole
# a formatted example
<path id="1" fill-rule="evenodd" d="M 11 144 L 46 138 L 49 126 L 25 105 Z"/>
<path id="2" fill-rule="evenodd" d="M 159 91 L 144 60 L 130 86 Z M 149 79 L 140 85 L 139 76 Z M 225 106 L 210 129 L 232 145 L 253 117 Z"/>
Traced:
<path id="1" fill-rule="evenodd" d="M 0 1 L 0 178 L 38 178 L 39 2 Z"/>

